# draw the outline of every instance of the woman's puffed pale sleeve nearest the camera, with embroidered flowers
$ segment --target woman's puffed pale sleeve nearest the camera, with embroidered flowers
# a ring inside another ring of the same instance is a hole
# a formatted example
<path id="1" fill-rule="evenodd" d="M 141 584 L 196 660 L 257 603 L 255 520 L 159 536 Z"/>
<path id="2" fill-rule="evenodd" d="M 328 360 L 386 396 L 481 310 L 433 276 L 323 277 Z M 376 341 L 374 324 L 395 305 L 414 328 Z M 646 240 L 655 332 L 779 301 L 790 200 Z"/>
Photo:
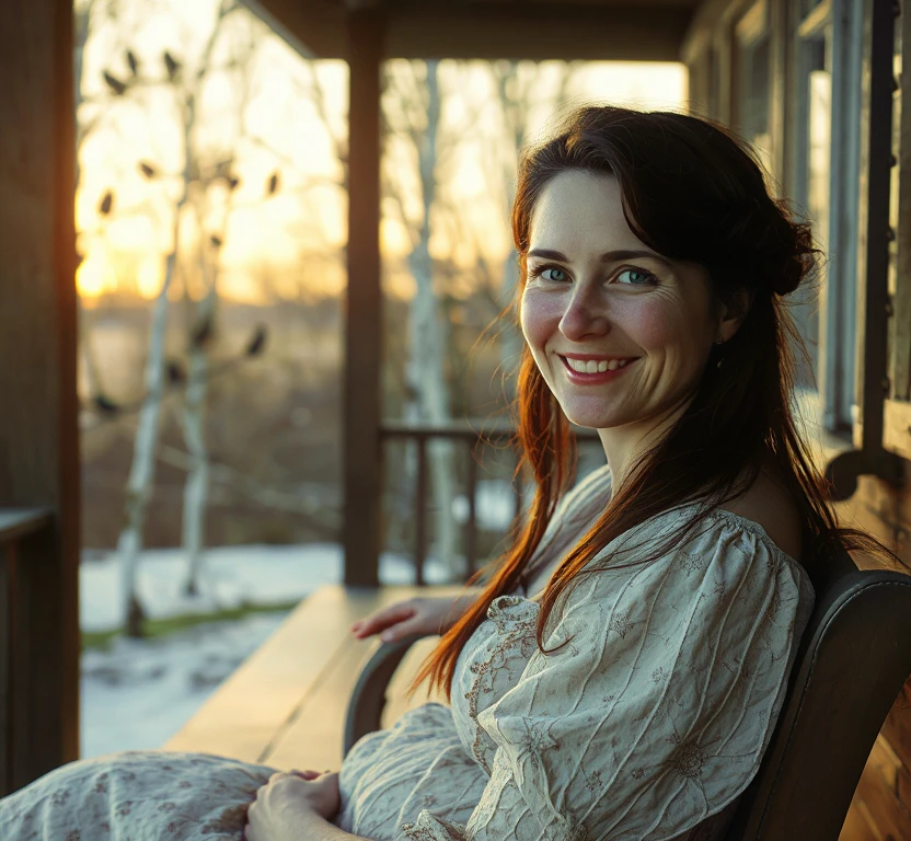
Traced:
<path id="1" fill-rule="evenodd" d="M 726 518 L 650 564 L 583 578 L 520 681 L 478 714 L 495 741 L 468 825 L 420 841 L 661 841 L 731 803 L 782 706 L 812 590 Z"/>

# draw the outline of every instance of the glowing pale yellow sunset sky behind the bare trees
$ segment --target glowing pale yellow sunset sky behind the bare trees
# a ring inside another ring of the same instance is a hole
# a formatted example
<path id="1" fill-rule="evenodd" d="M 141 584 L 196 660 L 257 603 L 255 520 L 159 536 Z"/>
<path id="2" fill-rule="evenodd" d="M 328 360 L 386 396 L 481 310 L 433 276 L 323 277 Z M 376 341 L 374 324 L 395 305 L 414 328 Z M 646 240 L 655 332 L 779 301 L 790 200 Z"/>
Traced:
<path id="1" fill-rule="evenodd" d="M 85 103 L 79 117 L 93 128 L 79 149 L 76 217 L 84 260 L 77 283 L 90 306 L 111 290 L 138 291 L 146 298 L 159 293 L 173 244 L 183 169 L 181 106 L 175 87 L 166 82 L 163 54 L 181 61 L 181 78 L 194 79 L 216 4 L 164 0 L 150 10 L 148 3 L 134 0 L 124 8 L 127 13 L 116 24 L 96 19 L 84 51 Z M 252 44 L 249 59 L 237 59 L 246 43 Z M 104 72 L 129 80 L 127 48 L 139 62 L 138 82 L 117 96 Z M 345 197 L 334 142 L 344 141 L 346 130 L 346 65 L 320 61 L 311 69 L 246 11 L 224 23 L 212 55 L 216 66 L 224 68 L 234 56 L 246 69 L 207 73 L 197 102 L 196 148 L 206 150 L 200 154 L 204 163 L 233 154 L 231 169 L 240 186 L 233 193 L 223 182 L 211 187 L 201 223 L 195 214 L 184 215 L 184 263 L 195 266 L 197 243 L 207 243 L 216 233 L 223 240 L 219 284 L 226 298 L 262 300 L 264 278 L 284 293 L 337 293 L 345 283 Z M 407 69 L 404 62 L 394 64 L 402 67 L 393 67 L 393 72 Z M 549 62 L 538 72 L 539 104 L 530 108 L 529 118 L 532 137 L 553 116 L 545 89 L 558 71 L 557 62 Z M 325 115 L 308 93 L 313 72 L 324 94 Z M 485 155 L 489 161 L 489 145 L 503 142 L 489 72 L 483 62 L 445 61 L 440 80 L 440 145 L 447 150 L 446 165 L 438 171 L 440 191 L 452 206 L 464 208 L 464 224 L 476 233 L 477 247 L 501 260 L 509 249 L 507 208 L 498 197 L 501 187 L 492 187 L 489 165 L 484 163 Z M 685 88 L 681 65 L 590 62 L 574 76 L 570 101 L 679 108 Z M 394 158 L 390 171 L 401 175 L 402 205 L 414 218 L 420 205 L 416 176 L 406 172 L 413 168 L 408 151 L 392 143 L 388 154 Z M 152 166 L 154 177 L 147 178 L 140 163 Z M 268 195 L 273 173 L 278 174 L 278 188 Z M 114 200 L 109 215 L 103 216 L 100 205 L 107 191 Z M 382 243 L 390 265 L 397 265 L 410 249 L 408 231 L 390 207 L 384 208 Z M 431 253 L 456 263 L 474 258 L 442 230 L 433 235 Z M 388 291 L 407 296 L 408 278 L 391 276 Z"/>

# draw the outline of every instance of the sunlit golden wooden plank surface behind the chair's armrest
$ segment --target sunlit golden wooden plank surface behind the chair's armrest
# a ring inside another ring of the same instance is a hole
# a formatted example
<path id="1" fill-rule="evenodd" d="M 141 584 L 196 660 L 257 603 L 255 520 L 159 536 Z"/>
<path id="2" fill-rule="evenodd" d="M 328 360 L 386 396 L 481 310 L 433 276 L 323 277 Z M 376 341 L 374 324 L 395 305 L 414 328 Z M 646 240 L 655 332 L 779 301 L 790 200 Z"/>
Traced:
<path id="1" fill-rule="evenodd" d="M 201 751 L 275 768 L 337 770 L 343 757 L 345 711 L 362 665 L 378 643 L 356 640 L 349 625 L 380 607 L 417 594 L 459 592 L 459 587 L 322 587 L 209 698 L 165 750 Z M 408 652 L 390 684 L 383 725 L 426 703 L 425 691 L 408 703 L 408 676 L 438 637 Z"/>

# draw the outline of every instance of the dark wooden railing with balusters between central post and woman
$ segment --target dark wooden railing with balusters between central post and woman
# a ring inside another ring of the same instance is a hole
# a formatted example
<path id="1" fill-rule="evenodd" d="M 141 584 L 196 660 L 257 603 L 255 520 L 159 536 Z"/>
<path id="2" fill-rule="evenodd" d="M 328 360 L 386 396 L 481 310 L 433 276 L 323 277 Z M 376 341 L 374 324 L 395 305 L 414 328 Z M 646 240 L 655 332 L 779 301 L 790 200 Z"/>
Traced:
<path id="1" fill-rule="evenodd" d="M 579 443 L 598 443 L 598 434 L 593 429 L 575 429 Z M 485 445 L 506 445 L 514 438 L 515 428 L 509 424 L 484 424 L 473 426 L 466 423 L 449 424 L 408 424 L 404 422 L 387 420 L 380 427 L 382 441 L 412 440 L 417 447 L 417 466 L 414 494 L 414 565 L 415 584 L 425 584 L 425 563 L 427 561 L 428 530 L 427 530 L 427 442 L 431 439 L 458 442 L 466 456 L 465 497 L 468 499 L 468 518 L 465 522 L 464 555 L 466 573 L 471 575 L 477 564 L 477 481 L 478 481 L 478 448 Z M 514 465 L 516 463 L 514 456 Z M 515 492 L 514 520 L 523 505 L 522 485 L 512 481 Z"/>

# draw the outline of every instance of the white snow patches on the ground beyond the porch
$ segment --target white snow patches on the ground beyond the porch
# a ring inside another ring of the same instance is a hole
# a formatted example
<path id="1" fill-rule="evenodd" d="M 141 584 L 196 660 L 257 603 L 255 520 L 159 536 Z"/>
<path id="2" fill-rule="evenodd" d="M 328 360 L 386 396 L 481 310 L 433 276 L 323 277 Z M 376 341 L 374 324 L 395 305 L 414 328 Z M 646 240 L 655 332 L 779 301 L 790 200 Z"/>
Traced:
<path id="1" fill-rule="evenodd" d="M 181 550 L 147 550 L 138 569 L 138 591 L 151 618 L 207 613 L 241 604 L 268 606 L 302 599 L 324 584 L 342 580 L 342 549 L 224 546 L 206 552 L 201 595 L 183 594 L 186 562 Z M 445 580 L 428 563 L 429 583 Z M 383 584 L 411 584 L 406 558 L 384 555 Z M 87 552 L 80 566 L 83 631 L 119 627 L 123 619 L 116 554 Z M 166 637 L 118 637 L 108 650 L 82 656 L 82 756 L 160 748 L 212 691 L 281 623 L 285 612 L 232 622 L 207 622 Z"/>

